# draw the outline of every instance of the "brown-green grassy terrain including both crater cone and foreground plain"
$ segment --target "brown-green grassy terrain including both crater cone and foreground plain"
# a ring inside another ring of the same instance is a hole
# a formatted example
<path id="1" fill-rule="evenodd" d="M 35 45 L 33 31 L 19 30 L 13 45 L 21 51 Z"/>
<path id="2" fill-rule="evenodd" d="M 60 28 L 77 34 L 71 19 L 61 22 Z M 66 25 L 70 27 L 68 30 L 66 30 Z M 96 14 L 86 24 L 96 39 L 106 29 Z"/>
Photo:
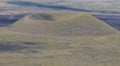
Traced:
<path id="1" fill-rule="evenodd" d="M 120 32 L 88 13 L 33 13 L 0 28 L 0 66 L 119 66 Z"/>

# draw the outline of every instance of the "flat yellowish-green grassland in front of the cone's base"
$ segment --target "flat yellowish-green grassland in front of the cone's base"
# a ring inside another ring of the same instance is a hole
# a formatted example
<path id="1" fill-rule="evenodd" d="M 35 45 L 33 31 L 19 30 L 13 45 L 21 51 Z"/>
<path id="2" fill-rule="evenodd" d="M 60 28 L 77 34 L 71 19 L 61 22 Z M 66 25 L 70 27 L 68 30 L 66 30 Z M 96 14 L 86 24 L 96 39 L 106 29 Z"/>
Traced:
<path id="1" fill-rule="evenodd" d="M 120 66 L 120 35 L 70 38 L 7 32 L 0 37 L 0 66 Z"/>

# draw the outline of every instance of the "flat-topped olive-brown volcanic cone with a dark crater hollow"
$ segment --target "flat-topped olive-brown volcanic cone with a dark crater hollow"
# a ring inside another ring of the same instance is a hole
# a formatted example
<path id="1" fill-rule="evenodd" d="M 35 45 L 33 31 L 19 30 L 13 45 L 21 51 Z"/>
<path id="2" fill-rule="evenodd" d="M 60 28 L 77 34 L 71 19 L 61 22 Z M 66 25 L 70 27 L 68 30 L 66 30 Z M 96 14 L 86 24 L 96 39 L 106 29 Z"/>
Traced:
<path id="1" fill-rule="evenodd" d="M 36 13 L 12 24 L 8 30 L 30 34 L 87 36 L 118 31 L 88 13 Z"/>

